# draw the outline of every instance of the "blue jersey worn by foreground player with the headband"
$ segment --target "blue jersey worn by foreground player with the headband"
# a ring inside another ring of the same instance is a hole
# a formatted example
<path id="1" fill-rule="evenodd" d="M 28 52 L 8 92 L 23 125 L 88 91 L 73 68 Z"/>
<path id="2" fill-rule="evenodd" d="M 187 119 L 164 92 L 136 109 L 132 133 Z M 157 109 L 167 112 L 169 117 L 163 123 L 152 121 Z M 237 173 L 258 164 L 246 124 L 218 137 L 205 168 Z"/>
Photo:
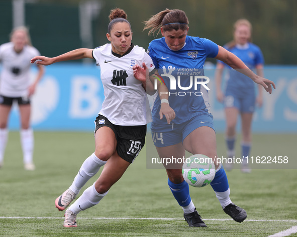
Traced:
<path id="1" fill-rule="evenodd" d="M 217 44 L 199 37 L 186 36 L 184 47 L 178 51 L 170 50 L 164 38 L 150 43 L 148 53 L 169 90 L 169 105 L 175 111 L 172 122 L 181 124 L 196 115 L 210 113 L 203 67 L 206 58 L 214 58 L 218 52 Z M 152 109 L 153 123 L 166 125 L 165 118 L 160 120 L 159 111 L 157 96 Z"/>

